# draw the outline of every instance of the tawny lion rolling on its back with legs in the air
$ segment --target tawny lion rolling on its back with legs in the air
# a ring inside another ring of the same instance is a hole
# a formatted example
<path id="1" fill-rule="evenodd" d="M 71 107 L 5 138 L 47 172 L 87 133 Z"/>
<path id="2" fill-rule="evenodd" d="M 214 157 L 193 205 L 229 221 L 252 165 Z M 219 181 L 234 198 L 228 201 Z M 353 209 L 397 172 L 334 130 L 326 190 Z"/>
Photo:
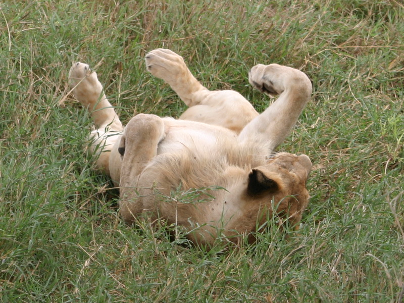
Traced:
<path id="1" fill-rule="evenodd" d="M 246 234 L 254 241 L 251 232 L 263 230 L 274 216 L 297 226 L 308 205 L 312 163 L 306 155 L 271 155 L 310 99 L 309 78 L 277 64 L 253 67 L 251 85 L 280 94 L 258 114 L 235 91 L 205 88 L 169 49 L 149 52 L 146 68 L 188 106 L 178 120 L 138 114 L 123 128 L 96 73 L 75 63 L 69 74 L 74 96 L 94 120 L 90 148 L 99 154 L 96 166 L 120 188 L 123 219 L 163 219 L 208 246 L 218 238 L 238 243 Z M 201 188 L 194 203 L 172 196 L 178 189 Z"/>

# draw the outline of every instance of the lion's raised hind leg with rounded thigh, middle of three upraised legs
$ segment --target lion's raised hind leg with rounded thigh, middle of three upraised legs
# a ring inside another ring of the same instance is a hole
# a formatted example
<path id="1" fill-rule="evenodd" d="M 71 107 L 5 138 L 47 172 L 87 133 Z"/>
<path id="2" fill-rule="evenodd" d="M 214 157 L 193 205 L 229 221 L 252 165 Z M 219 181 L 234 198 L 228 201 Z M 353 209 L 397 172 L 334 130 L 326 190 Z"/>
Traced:
<path id="1" fill-rule="evenodd" d="M 218 125 L 239 133 L 258 116 L 251 104 L 234 90 L 211 91 L 191 74 L 181 56 L 169 49 L 146 55 L 146 68 L 165 80 L 189 108 L 179 119 Z"/>

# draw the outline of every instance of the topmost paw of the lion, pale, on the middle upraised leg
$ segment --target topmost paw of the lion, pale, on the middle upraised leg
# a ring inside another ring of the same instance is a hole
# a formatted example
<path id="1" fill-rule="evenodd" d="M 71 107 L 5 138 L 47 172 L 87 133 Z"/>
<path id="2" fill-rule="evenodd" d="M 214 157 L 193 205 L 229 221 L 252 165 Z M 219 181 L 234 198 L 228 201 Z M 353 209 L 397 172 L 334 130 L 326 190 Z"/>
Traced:
<path id="1" fill-rule="evenodd" d="M 146 68 L 155 77 L 169 84 L 184 76 L 188 70 L 184 59 L 170 49 L 158 48 L 146 54 Z"/>

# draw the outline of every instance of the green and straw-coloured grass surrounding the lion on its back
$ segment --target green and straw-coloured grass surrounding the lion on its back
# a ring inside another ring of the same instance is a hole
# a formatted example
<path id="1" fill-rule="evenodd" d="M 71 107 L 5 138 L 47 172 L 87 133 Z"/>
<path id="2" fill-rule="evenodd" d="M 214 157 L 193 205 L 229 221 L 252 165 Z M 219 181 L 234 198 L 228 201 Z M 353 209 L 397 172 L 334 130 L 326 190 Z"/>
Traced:
<path id="1" fill-rule="evenodd" d="M 2 2 L 0 301 L 404 301 L 404 6 L 399 1 Z M 145 72 L 157 47 L 180 53 L 211 89 L 247 84 L 256 63 L 306 72 L 312 102 L 280 150 L 314 163 L 298 233 L 207 253 L 117 216 L 93 171 L 88 115 L 71 63 L 97 67 L 122 121 L 178 117 Z"/>

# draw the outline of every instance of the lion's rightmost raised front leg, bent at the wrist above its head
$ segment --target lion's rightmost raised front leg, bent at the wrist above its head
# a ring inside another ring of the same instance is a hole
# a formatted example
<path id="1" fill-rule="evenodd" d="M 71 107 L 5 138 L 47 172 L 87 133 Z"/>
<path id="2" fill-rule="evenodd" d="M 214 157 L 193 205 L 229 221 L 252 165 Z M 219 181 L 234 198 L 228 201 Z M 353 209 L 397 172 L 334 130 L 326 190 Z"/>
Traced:
<path id="1" fill-rule="evenodd" d="M 269 108 L 244 127 L 238 137 L 243 143 L 262 144 L 268 154 L 283 142 L 296 124 L 310 99 L 312 83 L 305 73 L 278 64 L 256 65 L 250 70 L 249 82 L 262 92 L 280 94 Z"/>

